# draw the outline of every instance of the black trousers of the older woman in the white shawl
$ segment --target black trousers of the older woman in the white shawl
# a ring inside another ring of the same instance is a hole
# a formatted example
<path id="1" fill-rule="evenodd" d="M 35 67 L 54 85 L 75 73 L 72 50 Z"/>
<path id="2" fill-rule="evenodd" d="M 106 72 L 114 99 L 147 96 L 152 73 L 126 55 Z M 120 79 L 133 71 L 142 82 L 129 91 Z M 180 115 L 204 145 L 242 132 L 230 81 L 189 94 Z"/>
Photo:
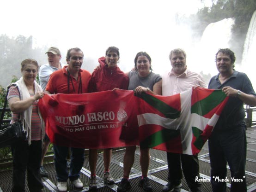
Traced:
<path id="1" fill-rule="evenodd" d="M 12 192 L 25 192 L 25 175 L 30 192 L 41 192 L 43 183 L 40 176 L 42 142 L 18 141 L 12 145 Z"/>

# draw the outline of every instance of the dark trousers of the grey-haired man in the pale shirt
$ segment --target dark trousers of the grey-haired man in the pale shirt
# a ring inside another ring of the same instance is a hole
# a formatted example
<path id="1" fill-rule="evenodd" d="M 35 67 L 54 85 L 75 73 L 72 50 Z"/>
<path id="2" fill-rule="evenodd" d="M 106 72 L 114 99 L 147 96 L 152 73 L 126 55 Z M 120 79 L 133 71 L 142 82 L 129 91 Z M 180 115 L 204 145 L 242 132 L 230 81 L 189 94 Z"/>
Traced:
<path id="1" fill-rule="evenodd" d="M 199 178 L 199 163 L 197 155 L 167 152 L 167 162 L 169 169 L 169 181 L 180 181 L 182 179 L 183 170 L 187 184 L 192 191 L 201 186 L 201 183 L 195 180 L 196 176 Z"/>

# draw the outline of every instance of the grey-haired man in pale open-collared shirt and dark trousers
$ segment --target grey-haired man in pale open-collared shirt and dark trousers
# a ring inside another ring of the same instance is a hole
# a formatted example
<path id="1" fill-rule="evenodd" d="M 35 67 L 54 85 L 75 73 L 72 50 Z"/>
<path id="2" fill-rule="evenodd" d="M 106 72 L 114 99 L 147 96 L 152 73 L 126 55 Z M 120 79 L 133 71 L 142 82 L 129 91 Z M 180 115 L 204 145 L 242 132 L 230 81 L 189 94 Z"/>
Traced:
<path id="1" fill-rule="evenodd" d="M 162 76 L 163 96 L 181 93 L 198 85 L 205 88 L 207 87 L 200 74 L 187 69 L 186 53 L 183 49 L 172 50 L 169 58 L 172 69 Z M 163 192 L 169 192 L 182 186 L 182 170 L 190 189 L 189 192 L 201 192 L 201 183 L 195 180 L 196 177 L 199 177 L 197 155 L 167 152 L 167 162 L 169 169 L 168 183 L 164 186 Z"/>

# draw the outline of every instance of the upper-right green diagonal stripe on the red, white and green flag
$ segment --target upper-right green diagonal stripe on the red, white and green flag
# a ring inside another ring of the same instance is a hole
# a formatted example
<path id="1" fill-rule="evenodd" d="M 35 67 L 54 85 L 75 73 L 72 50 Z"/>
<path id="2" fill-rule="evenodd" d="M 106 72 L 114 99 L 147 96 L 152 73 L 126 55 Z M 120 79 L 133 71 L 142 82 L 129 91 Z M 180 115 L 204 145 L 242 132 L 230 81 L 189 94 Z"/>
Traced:
<path id="1" fill-rule="evenodd" d="M 191 113 L 204 116 L 212 111 L 213 108 L 219 105 L 225 98 L 226 95 L 221 90 L 214 90 L 207 98 L 202 99 L 191 106 Z"/>

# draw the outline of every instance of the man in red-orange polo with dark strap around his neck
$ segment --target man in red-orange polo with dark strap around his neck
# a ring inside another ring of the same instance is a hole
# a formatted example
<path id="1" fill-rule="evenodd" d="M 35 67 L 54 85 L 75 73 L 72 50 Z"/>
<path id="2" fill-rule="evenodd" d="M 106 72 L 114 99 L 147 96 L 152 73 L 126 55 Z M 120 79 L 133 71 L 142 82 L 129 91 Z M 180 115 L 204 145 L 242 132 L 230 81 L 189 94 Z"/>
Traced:
<path id="1" fill-rule="evenodd" d="M 49 78 L 46 92 L 56 93 L 88 93 L 88 83 L 91 78 L 90 72 L 82 70 L 84 53 L 79 48 L 72 48 L 67 51 L 67 66 L 62 70 L 57 70 Z M 69 175 L 67 173 L 67 153 L 68 147 L 54 145 L 55 169 L 57 175 L 57 188 L 59 192 L 67 191 L 67 179 L 75 188 L 83 188 L 83 183 L 79 179 L 85 157 L 84 149 L 71 148 L 71 163 Z"/>

